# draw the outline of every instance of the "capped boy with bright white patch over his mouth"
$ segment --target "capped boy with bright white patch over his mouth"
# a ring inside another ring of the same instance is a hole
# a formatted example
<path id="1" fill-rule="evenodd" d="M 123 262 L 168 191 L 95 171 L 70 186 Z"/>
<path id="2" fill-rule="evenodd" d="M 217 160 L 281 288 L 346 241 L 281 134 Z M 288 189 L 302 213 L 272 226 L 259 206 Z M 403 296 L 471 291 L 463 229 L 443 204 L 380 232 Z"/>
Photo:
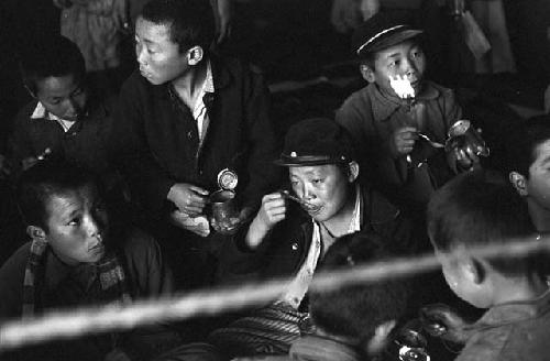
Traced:
<path id="1" fill-rule="evenodd" d="M 383 13 L 355 31 L 352 44 L 369 86 L 344 101 L 337 121 L 352 134 L 374 184 L 400 201 L 425 205 L 452 175 L 442 150 L 426 139 L 443 144 L 462 112 L 450 89 L 424 79 L 421 33 Z"/>

